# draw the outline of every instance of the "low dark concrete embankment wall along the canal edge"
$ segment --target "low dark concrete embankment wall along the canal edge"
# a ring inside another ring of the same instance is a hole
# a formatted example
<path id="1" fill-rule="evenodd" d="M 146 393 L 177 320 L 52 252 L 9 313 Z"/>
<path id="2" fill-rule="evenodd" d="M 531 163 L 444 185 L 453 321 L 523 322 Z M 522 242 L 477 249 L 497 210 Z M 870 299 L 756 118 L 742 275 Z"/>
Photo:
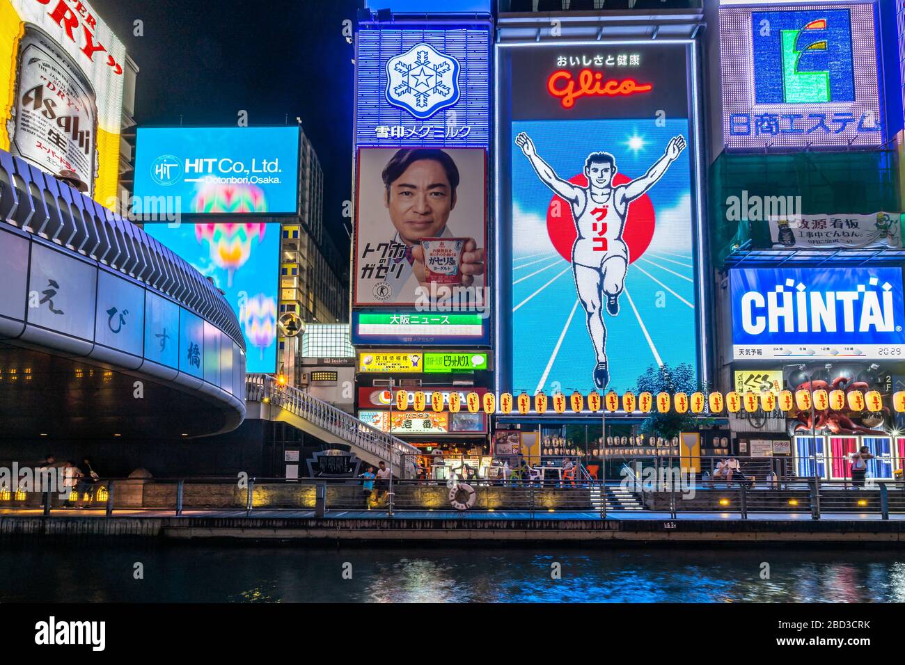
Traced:
<path id="1" fill-rule="evenodd" d="M 0 517 L 14 538 L 300 540 L 346 542 L 599 542 L 636 544 L 874 543 L 905 546 L 905 521 L 409 518 Z"/>

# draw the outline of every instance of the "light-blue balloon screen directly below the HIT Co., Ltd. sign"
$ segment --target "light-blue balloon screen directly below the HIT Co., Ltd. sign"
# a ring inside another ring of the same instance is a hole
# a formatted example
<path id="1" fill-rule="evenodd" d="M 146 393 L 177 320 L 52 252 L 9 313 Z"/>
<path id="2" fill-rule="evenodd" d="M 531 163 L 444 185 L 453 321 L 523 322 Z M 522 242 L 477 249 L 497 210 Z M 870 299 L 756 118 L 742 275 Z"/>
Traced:
<path id="1" fill-rule="evenodd" d="M 145 232 L 224 291 L 245 337 L 247 371 L 276 372 L 280 225 L 159 223 Z"/>

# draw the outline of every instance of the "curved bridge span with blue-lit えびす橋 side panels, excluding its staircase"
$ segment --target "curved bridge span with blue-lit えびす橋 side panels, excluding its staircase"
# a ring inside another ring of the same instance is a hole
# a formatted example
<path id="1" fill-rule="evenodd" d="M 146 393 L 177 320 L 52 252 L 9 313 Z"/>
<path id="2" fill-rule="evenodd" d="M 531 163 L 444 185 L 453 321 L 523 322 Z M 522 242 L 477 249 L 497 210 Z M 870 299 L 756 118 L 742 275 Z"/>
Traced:
<path id="1" fill-rule="evenodd" d="M 52 422 L 90 432 L 92 419 L 190 436 L 242 423 L 244 340 L 214 285 L 135 224 L 4 151 L 0 275 L 0 404 L 22 406 L 4 409 L 14 426 L 0 437 Z M 108 370 L 108 384 L 78 384 L 90 367 Z M 150 401 L 135 396 L 137 381 Z M 117 394 L 98 392 L 114 384 Z M 48 402 L 52 410 L 36 406 Z"/>

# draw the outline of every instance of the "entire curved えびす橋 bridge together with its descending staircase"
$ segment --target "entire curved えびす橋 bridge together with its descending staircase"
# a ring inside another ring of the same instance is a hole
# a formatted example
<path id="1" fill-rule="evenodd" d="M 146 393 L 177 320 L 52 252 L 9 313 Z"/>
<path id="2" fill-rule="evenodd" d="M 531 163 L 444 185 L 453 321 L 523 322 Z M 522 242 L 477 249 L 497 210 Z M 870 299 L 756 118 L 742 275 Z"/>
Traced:
<path id="1" fill-rule="evenodd" d="M 246 376 L 239 320 L 210 280 L 3 150 L 0 280 L 0 461 L 52 452 L 96 455 L 108 474 L 255 473 L 274 423 L 369 463 L 414 452 L 330 404 Z M 233 434 L 211 438 L 224 432 Z"/>

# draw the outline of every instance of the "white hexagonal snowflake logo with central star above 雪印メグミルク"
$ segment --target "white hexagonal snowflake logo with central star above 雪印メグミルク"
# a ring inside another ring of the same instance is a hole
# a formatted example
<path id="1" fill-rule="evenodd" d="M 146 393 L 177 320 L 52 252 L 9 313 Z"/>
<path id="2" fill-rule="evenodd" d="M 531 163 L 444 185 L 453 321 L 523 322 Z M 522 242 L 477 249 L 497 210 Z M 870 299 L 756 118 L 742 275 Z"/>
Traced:
<path id="1" fill-rule="evenodd" d="M 386 100 L 425 119 L 459 100 L 459 61 L 419 43 L 386 62 Z"/>

